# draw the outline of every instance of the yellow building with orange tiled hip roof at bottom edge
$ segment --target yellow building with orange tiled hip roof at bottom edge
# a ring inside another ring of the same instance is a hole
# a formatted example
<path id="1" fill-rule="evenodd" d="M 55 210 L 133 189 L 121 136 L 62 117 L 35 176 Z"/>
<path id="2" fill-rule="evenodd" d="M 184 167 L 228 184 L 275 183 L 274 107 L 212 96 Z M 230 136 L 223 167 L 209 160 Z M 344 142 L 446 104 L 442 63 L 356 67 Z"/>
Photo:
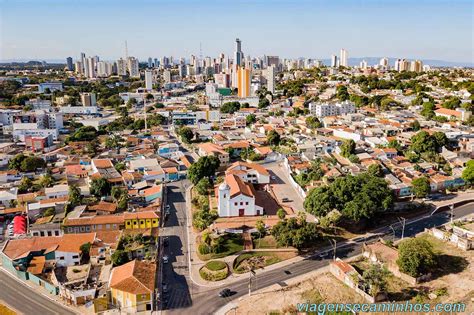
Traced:
<path id="1" fill-rule="evenodd" d="M 112 269 L 110 295 L 112 304 L 124 313 L 151 311 L 155 290 L 156 265 L 133 260 Z"/>

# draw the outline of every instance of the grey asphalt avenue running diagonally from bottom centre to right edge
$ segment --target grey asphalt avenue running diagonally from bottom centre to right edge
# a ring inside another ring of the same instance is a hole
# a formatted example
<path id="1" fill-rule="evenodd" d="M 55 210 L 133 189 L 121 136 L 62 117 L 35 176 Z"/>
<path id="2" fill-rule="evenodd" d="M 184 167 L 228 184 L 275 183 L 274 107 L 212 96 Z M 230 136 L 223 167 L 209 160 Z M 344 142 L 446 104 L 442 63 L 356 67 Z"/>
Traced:
<path id="1" fill-rule="evenodd" d="M 458 207 L 454 211 L 454 218 L 459 218 L 466 216 L 470 213 L 474 213 L 474 204 L 465 205 L 462 207 Z M 447 223 L 450 220 L 450 213 L 443 212 L 435 214 L 431 217 L 425 217 L 417 220 L 414 223 L 407 223 L 405 228 L 405 237 L 414 236 L 417 233 L 424 231 L 425 228 L 433 227 L 436 225 L 440 225 L 443 223 Z M 395 228 L 395 235 L 393 234 L 392 230 L 386 228 L 383 230 L 383 233 L 386 234 L 386 238 L 396 239 L 401 237 L 401 225 L 394 224 L 393 227 Z M 372 241 L 375 241 L 373 239 Z M 362 243 L 364 240 L 359 240 L 358 243 L 348 244 L 347 246 L 341 246 L 337 250 L 337 256 L 340 258 L 348 258 L 361 253 Z M 274 285 L 280 284 L 281 286 L 285 286 L 285 281 L 290 278 L 303 275 L 315 269 L 321 268 L 326 266 L 331 257 L 320 259 L 319 257 L 312 256 L 308 257 L 302 261 L 293 263 L 290 266 L 285 266 L 280 269 L 272 270 L 272 271 L 259 271 L 257 272 L 257 282 L 258 282 L 258 289 Z M 245 294 L 248 294 L 248 281 L 241 280 L 238 281 L 230 286 L 228 286 L 233 292 L 234 295 L 229 298 L 218 298 L 217 294 L 221 288 L 200 288 L 200 290 L 195 290 L 192 294 L 192 305 L 189 308 L 181 310 L 181 314 L 213 314 L 219 308 L 226 305 L 230 301 L 239 298 Z M 257 289 L 255 287 L 252 288 L 253 290 Z"/>

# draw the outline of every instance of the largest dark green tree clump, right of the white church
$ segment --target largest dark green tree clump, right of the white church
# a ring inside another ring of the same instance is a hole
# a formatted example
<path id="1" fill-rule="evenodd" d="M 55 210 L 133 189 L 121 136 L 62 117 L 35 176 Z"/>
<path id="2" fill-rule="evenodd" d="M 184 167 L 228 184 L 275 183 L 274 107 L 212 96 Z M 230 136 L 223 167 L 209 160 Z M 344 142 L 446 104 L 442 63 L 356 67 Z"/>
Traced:
<path id="1" fill-rule="evenodd" d="M 312 189 L 304 201 L 304 208 L 318 217 L 338 209 L 344 218 L 358 222 L 373 218 L 392 204 L 393 194 L 387 182 L 363 173 L 340 177 L 328 186 Z"/>

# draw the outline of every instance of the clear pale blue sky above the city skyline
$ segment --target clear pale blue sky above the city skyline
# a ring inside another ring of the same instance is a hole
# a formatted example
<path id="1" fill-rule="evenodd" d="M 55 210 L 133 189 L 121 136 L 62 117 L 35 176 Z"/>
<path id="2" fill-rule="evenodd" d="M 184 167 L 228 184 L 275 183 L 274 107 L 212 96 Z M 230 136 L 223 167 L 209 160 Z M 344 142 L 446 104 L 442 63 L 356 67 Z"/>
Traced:
<path id="1" fill-rule="evenodd" d="M 247 55 L 474 61 L 472 0 L 0 0 L 0 60 L 81 52 L 189 58 Z"/>

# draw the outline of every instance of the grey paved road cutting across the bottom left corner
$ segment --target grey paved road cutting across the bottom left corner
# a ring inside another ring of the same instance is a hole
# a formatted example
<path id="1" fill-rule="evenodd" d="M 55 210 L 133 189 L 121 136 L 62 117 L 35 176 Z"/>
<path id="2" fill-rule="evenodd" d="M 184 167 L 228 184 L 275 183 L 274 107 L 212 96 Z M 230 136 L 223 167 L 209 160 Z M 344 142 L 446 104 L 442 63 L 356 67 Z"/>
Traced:
<path id="1" fill-rule="evenodd" d="M 74 314 L 23 283 L 0 272 L 0 300 L 25 315 Z"/>

